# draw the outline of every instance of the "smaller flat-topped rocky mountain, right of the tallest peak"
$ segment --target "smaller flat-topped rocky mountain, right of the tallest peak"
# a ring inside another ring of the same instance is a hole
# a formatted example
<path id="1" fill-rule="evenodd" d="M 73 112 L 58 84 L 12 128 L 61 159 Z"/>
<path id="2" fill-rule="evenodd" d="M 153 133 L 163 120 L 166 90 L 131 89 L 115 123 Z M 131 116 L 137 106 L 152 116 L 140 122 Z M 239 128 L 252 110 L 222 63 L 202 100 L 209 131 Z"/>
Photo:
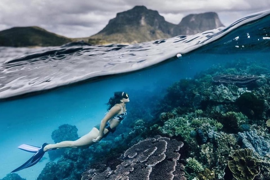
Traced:
<path id="1" fill-rule="evenodd" d="M 219 27 L 224 27 L 224 25 L 217 13 L 190 14 L 174 27 L 173 35 L 192 35 Z"/>

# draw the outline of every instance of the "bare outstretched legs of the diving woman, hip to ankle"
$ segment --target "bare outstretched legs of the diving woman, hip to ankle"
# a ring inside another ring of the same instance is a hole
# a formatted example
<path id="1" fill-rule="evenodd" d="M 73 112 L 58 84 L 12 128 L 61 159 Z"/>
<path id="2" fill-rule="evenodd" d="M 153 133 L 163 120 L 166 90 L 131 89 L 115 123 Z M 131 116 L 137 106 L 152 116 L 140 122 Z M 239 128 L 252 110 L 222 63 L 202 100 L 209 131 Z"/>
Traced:
<path id="1" fill-rule="evenodd" d="M 62 141 L 56 144 L 48 144 L 47 146 L 44 147 L 44 151 L 48 151 L 49 149 L 54 148 L 65 148 L 65 147 L 76 148 L 86 145 L 90 146 L 93 143 L 92 139 L 96 139 L 98 135 L 99 130 L 94 127 L 88 134 L 80 137 L 76 141 Z"/>

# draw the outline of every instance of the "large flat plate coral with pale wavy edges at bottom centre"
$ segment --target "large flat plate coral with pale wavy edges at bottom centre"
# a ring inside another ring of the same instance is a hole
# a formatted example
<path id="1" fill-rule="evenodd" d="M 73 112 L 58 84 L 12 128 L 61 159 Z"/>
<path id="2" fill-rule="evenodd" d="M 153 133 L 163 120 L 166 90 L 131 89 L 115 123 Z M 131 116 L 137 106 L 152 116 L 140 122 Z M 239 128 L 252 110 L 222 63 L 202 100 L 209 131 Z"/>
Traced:
<path id="1" fill-rule="evenodd" d="M 133 145 L 123 155 L 115 170 L 90 169 L 84 180 L 186 180 L 184 166 L 178 163 L 183 142 L 155 136 Z"/>

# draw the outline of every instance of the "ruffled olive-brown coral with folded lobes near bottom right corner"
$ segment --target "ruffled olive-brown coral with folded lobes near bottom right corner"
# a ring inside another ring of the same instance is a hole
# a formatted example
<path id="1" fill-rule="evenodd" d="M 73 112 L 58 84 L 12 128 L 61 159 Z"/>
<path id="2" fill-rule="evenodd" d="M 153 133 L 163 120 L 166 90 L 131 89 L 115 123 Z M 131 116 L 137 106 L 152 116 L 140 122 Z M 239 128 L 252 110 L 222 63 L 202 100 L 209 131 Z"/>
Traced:
<path id="1" fill-rule="evenodd" d="M 231 157 L 233 160 L 228 161 L 228 166 L 237 180 L 253 180 L 260 173 L 257 159 L 252 157 L 251 149 L 238 150 Z"/>

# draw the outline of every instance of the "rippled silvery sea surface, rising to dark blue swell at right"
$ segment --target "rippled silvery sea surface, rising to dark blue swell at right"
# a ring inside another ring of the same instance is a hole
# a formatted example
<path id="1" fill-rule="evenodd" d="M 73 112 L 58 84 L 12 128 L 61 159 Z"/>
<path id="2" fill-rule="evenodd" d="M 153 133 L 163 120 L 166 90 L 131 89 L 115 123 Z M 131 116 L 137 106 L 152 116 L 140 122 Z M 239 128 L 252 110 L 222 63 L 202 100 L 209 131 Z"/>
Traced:
<path id="1" fill-rule="evenodd" d="M 267 39 L 269 14 L 270 11 L 257 13 L 226 28 L 191 36 L 132 45 L 75 43 L 38 49 L 2 47 L 0 99 L 136 71 L 193 50 L 212 53 L 226 53 L 228 49 L 238 53 L 256 47 L 267 50 L 270 44 Z"/>

